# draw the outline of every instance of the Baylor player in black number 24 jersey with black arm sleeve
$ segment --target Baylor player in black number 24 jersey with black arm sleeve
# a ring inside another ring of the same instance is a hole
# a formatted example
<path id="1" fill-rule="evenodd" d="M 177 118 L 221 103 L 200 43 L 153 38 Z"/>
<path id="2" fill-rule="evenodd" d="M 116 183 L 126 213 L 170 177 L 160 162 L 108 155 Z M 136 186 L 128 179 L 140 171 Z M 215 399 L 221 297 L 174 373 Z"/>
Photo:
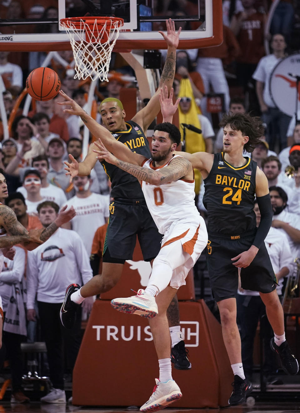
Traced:
<path id="1" fill-rule="evenodd" d="M 162 112 L 165 121 L 172 121 L 172 102 L 170 108 L 165 107 Z M 224 130 L 222 153 L 177 153 L 201 171 L 205 183 L 208 270 L 220 310 L 224 344 L 234 372 L 234 389 L 229 398 L 229 404 L 234 405 L 243 403 L 252 391 L 243 373 L 241 339 L 236 325 L 238 268 L 241 268 L 242 288 L 260 292 L 274 330 L 271 348 L 279 354 L 283 370 L 297 374 L 298 361 L 285 339 L 283 309 L 264 244 L 273 216 L 268 181 L 254 161 L 243 157 L 244 150 L 252 152 L 259 143 L 262 124 L 258 118 L 237 113 L 225 115 L 220 126 Z M 255 197 L 262 217 L 258 228 L 253 211 Z"/>

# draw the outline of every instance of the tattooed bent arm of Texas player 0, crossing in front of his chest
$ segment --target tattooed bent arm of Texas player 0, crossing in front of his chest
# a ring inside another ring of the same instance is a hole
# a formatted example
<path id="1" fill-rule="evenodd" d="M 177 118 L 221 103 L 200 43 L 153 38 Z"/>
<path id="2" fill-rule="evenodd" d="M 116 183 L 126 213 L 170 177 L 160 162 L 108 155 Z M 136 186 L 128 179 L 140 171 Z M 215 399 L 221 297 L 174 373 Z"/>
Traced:
<path id="1" fill-rule="evenodd" d="M 191 163 L 182 157 L 176 157 L 170 162 L 169 166 L 163 169 L 154 171 L 153 169 L 144 168 L 143 166 L 138 166 L 130 164 L 129 162 L 121 161 L 111 154 L 99 141 L 99 158 L 105 159 L 106 162 L 118 166 L 118 168 L 123 169 L 123 171 L 130 173 L 135 176 L 138 180 L 143 180 L 150 183 L 151 185 L 163 185 L 164 183 L 172 182 L 187 176 L 189 173 L 193 173 Z"/>

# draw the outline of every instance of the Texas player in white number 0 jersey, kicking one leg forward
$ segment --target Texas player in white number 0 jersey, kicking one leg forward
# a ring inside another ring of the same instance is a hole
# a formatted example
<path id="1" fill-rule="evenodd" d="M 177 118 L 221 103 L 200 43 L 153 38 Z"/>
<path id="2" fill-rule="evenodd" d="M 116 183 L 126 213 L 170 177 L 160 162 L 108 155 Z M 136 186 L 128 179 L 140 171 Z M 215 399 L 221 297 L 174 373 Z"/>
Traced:
<path id="1" fill-rule="evenodd" d="M 159 380 L 150 399 L 140 408 L 150 412 L 180 399 L 182 393 L 171 374 L 170 334 L 166 310 L 177 289 L 185 284 L 189 270 L 206 247 L 208 235 L 203 218 L 194 203 L 194 171 L 187 159 L 174 155 L 180 144 L 180 131 L 165 122 L 154 128 L 151 159 L 131 152 L 108 133 L 101 133 L 102 141 L 94 150 L 99 159 L 118 166 L 141 181 L 147 207 L 158 230 L 164 235 L 162 247 L 154 259 L 152 273 L 145 290 L 136 296 L 118 298 L 111 305 L 118 311 L 149 318 L 158 355 Z M 158 317 L 156 317 L 158 316 Z"/>

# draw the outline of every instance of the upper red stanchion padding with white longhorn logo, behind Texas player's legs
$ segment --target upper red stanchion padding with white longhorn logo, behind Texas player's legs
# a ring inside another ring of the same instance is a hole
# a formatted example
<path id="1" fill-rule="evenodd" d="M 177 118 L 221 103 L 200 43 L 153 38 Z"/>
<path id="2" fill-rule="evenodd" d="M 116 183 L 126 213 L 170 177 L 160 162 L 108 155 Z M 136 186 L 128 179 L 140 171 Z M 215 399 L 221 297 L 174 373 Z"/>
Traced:
<path id="1" fill-rule="evenodd" d="M 151 265 L 145 262 L 142 256 L 139 242 L 135 246 L 132 260 L 128 260 L 124 264 L 123 273 L 115 287 L 100 295 L 103 300 L 112 300 L 116 297 L 130 297 L 135 293 L 132 290 L 138 291 L 139 288 L 145 288 L 151 274 Z M 195 299 L 194 288 L 194 272 L 190 271 L 186 278 L 187 285 L 180 287 L 177 297 L 179 300 Z M 132 288 L 132 290 L 131 290 Z"/>

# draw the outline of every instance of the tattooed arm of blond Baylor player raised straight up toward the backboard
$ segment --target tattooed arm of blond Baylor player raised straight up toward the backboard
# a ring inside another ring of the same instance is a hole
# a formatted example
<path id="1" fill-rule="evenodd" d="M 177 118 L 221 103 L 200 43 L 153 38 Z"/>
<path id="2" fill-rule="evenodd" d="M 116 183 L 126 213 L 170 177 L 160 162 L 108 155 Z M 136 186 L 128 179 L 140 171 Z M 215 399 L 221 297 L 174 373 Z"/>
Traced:
<path id="1" fill-rule="evenodd" d="M 168 92 L 170 93 L 174 81 L 176 69 L 176 48 L 179 43 L 181 27 L 176 33 L 174 21 L 172 21 L 171 19 L 166 20 L 166 24 L 167 35 L 165 35 L 165 33 L 163 33 L 162 31 L 159 32 L 168 44 L 168 52 L 165 59 L 165 64 L 163 66 L 163 73 L 158 85 L 158 90 L 151 97 L 148 104 L 142 110 L 137 112 L 137 114 L 132 118 L 132 120 L 140 125 L 144 131 L 146 131 L 150 123 L 154 121 L 156 115 L 161 109 L 159 104 L 159 95 L 161 88 L 163 86 L 167 86 Z"/>

